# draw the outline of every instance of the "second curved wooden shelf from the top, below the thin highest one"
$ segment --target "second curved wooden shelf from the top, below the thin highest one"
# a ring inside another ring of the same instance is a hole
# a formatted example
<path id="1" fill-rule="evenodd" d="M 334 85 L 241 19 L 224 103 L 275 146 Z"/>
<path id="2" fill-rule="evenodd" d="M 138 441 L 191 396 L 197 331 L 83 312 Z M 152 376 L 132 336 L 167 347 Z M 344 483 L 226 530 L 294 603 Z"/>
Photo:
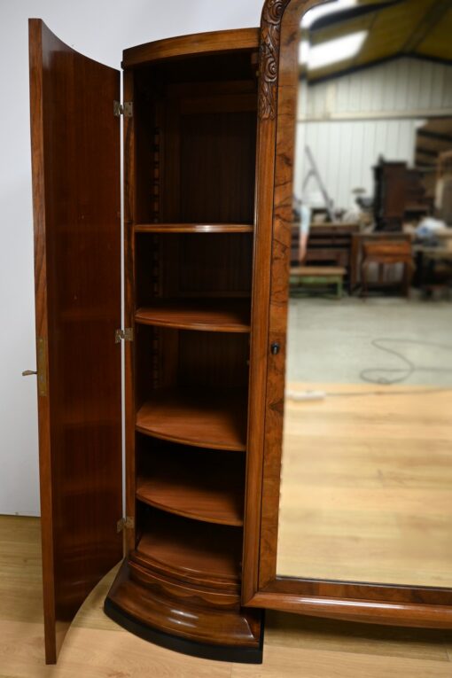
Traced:
<path id="1" fill-rule="evenodd" d="M 243 299 L 156 299 L 138 308 L 136 323 L 180 330 L 249 332 L 250 301 Z"/>

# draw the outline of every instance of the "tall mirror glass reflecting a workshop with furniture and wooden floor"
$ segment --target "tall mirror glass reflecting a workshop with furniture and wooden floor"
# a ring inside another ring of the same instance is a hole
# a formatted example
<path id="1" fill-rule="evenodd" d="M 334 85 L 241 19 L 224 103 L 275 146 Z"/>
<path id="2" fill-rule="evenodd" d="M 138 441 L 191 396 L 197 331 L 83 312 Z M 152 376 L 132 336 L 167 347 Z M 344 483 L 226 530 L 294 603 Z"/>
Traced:
<path id="1" fill-rule="evenodd" d="M 452 587 L 451 35 L 300 19 L 279 576 Z"/>

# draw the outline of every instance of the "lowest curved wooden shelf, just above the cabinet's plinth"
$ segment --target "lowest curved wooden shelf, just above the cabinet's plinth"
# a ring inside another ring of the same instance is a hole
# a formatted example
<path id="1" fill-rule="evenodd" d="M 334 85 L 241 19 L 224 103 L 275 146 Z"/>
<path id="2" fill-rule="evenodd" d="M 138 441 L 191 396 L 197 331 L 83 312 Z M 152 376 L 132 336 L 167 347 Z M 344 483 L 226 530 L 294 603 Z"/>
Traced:
<path id="1" fill-rule="evenodd" d="M 240 579 L 242 530 L 152 510 L 132 559 L 184 581 L 230 584 Z M 160 566 L 160 567 L 159 567 Z"/>

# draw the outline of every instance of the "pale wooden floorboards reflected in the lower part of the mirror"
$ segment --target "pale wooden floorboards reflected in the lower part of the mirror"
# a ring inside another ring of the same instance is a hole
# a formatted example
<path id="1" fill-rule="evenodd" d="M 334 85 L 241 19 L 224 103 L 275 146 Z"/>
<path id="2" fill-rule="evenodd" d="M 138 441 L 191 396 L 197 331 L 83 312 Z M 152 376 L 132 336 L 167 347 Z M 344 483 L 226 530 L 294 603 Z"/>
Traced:
<path id="1" fill-rule="evenodd" d="M 337 395 L 286 402 L 277 573 L 452 587 L 452 389 L 308 388 Z"/>

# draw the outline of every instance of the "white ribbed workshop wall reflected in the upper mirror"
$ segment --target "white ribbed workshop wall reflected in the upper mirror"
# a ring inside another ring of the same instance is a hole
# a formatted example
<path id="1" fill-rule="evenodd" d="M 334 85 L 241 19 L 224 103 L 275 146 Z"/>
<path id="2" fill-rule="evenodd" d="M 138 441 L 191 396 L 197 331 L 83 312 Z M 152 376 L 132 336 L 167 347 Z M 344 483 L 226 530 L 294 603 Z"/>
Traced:
<path id="1" fill-rule="evenodd" d="M 352 189 L 373 195 L 380 154 L 413 164 L 417 126 L 432 112 L 452 114 L 452 66 L 404 58 L 308 90 L 301 85 L 296 191 L 307 172 L 308 144 L 335 207 L 355 207 Z"/>

